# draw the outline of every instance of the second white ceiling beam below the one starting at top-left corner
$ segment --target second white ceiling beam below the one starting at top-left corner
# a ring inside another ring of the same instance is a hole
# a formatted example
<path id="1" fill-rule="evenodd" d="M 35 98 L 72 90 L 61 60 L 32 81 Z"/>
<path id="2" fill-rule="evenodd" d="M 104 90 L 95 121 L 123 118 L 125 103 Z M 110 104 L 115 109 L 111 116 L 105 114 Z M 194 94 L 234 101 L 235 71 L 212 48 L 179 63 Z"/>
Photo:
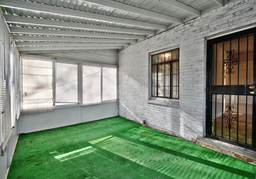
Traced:
<path id="1" fill-rule="evenodd" d="M 52 29 L 24 28 L 24 27 L 13 27 L 13 26 L 9 26 L 9 29 L 11 33 L 20 33 L 20 34 L 44 34 L 44 35 L 57 35 L 57 36 L 145 39 L 145 36 L 93 33 L 93 32 L 70 31 L 70 30 L 52 30 Z"/>

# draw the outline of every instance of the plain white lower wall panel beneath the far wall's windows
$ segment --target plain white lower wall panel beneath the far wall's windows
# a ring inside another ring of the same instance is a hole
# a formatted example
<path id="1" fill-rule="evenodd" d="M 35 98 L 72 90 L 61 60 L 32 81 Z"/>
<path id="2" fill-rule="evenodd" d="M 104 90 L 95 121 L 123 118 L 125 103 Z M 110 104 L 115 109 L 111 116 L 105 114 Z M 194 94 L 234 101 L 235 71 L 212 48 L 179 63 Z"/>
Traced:
<path id="1" fill-rule="evenodd" d="M 117 103 L 85 105 L 54 109 L 52 112 L 22 115 L 18 120 L 19 133 L 42 131 L 118 115 Z"/>

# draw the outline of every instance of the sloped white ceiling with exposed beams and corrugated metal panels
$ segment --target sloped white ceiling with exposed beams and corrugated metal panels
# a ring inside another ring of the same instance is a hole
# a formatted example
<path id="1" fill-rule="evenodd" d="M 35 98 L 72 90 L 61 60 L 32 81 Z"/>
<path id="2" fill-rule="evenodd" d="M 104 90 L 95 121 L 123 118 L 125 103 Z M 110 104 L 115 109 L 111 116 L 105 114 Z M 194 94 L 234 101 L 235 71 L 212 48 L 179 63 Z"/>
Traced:
<path id="1" fill-rule="evenodd" d="M 116 52 L 232 1 L 0 0 L 0 6 L 20 54 L 56 56 Z"/>

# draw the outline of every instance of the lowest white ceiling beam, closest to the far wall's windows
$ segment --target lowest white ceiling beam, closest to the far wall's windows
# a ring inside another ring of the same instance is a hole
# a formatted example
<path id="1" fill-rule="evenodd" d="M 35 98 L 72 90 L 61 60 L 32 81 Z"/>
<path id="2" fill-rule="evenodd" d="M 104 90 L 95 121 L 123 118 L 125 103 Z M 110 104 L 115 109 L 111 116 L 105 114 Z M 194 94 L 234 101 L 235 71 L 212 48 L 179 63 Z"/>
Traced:
<path id="1" fill-rule="evenodd" d="M 44 50 L 90 50 L 90 49 L 122 49 L 123 46 L 86 46 L 86 47 L 17 47 L 18 51 L 44 51 Z M 43 52 L 41 52 L 43 53 Z M 45 53 L 45 52 L 44 52 Z"/>

